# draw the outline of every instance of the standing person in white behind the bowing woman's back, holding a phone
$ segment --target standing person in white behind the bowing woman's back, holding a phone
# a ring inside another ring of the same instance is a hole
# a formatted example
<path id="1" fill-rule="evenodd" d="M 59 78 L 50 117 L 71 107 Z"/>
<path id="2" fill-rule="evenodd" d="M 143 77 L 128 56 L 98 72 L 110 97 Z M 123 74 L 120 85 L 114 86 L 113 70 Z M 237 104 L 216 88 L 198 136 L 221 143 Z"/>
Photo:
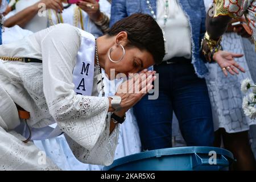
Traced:
<path id="1" fill-rule="evenodd" d="M 107 0 L 81 0 L 77 4 L 68 4 L 67 0 L 19 0 L 13 7 L 6 15 L 6 27 L 18 25 L 37 32 L 53 24 L 68 23 L 94 32 L 94 36 L 108 31 L 110 3 Z"/>

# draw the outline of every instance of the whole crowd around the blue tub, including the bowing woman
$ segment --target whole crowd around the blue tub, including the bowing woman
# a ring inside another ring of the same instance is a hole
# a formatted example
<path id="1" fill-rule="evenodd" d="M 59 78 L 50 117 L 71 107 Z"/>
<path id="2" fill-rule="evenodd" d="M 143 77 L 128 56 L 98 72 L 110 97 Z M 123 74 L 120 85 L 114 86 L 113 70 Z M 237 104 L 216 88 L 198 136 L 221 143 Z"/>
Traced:
<path id="1" fill-rule="evenodd" d="M 241 92 L 256 80 L 256 1 L 0 4 L 0 169 L 102 170 L 177 146 L 224 147 L 233 169 L 256 169 Z"/>

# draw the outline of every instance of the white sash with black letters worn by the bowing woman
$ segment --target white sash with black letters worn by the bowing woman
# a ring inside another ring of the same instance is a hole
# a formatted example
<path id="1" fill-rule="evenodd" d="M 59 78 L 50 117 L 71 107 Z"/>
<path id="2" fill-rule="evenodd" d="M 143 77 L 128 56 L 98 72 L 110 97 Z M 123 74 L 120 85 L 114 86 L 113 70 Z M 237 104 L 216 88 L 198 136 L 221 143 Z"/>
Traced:
<path id="1" fill-rule="evenodd" d="M 79 29 L 80 30 L 80 29 Z M 92 96 L 93 78 L 94 78 L 94 54 L 95 38 L 92 34 L 80 30 L 81 46 L 76 56 L 76 66 L 73 69 L 73 84 L 76 94 L 82 96 Z M 63 131 L 59 126 L 47 126 L 42 129 L 32 129 L 31 140 L 42 140 L 61 135 Z"/>

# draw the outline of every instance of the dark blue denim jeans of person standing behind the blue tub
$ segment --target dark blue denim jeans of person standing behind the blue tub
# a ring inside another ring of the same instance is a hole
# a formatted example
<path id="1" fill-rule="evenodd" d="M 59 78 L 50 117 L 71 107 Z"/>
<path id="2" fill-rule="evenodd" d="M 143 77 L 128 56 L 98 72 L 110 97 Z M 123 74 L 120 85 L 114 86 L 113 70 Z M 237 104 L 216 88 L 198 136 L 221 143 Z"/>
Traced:
<path id="1" fill-rule="evenodd" d="M 204 78 L 187 63 L 154 66 L 159 73 L 159 98 L 145 96 L 134 106 L 143 150 L 172 147 L 172 113 L 179 120 L 187 146 L 212 146 L 212 109 Z"/>

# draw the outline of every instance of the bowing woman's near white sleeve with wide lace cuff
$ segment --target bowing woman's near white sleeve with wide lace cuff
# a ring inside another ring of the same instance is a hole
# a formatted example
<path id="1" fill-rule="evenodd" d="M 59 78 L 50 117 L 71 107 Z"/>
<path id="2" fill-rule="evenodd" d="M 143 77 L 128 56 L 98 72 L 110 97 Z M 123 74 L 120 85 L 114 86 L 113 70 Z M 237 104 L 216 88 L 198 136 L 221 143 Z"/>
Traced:
<path id="1" fill-rule="evenodd" d="M 60 129 L 73 143 L 91 151 L 90 158 L 96 160 L 93 155 L 105 151 L 103 148 L 106 145 L 101 143 L 109 140 L 109 121 L 106 122 L 109 100 L 105 97 L 76 95 L 74 92 L 72 72 L 80 42 L 80 32 L 68 24 L 57 25 L 44 37 L 43 90 L 49 113 Z M 98 160 L 90 162 L 97 163 Z"/>

